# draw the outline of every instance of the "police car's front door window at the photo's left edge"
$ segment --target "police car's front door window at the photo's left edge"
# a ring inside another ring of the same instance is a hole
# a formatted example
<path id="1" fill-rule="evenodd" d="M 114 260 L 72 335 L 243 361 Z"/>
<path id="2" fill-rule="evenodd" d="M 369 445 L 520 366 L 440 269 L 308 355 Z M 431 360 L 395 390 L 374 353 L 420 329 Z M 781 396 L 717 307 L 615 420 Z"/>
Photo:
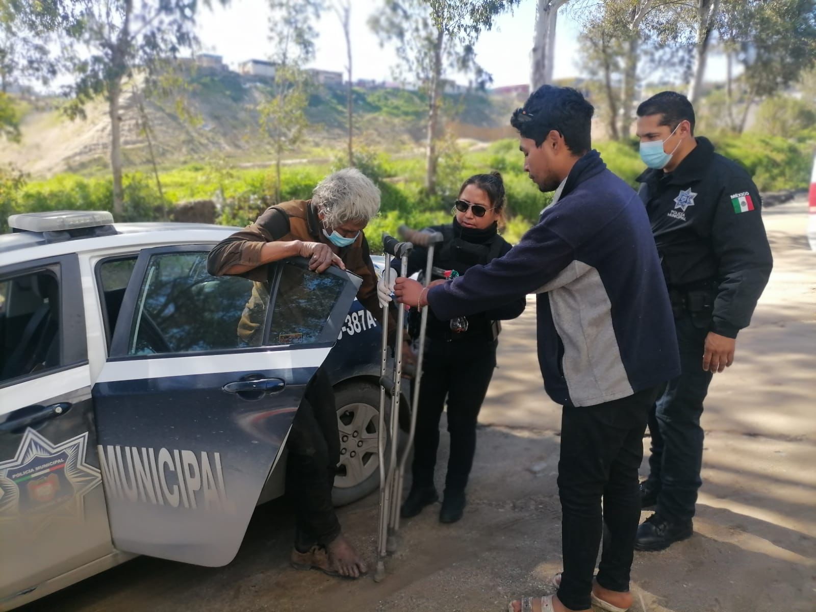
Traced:
<path id="1" fill-rule="evenodd" d="M 0 280 L 0 382 L 60 366 L 60 283 L 40 270 Z"/>

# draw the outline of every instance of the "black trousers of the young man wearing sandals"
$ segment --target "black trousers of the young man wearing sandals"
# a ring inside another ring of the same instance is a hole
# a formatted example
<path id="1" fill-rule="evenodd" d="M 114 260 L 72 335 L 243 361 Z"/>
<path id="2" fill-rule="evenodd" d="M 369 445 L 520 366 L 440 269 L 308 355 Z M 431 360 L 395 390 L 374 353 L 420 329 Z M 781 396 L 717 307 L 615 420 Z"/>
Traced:
<path id="1" fill-rule="evenodd" d="M 564 573 L 558 599 L 571 610 L 590 607 L 603 524 L 606 536 L 598 583 L 612 591 L 629 590 L 641 518 L 637 470 L 646 420 L 657 394 L 658 388 L 651 388 L 597 406 L 564 406 L 561 411 L 558 494 Z"/>

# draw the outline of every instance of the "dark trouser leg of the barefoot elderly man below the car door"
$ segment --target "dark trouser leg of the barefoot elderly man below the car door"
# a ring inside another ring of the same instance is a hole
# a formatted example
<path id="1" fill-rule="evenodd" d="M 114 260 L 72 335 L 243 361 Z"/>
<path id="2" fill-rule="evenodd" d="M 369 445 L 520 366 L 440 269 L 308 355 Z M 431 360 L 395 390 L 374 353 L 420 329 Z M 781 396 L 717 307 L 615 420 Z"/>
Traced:
<path id="1" fill-rule="evenodd" d="M 337 409 L 334 390 L 322 369 L 309 381 L 286 446 L 286 494 L 295 508 L 295 548 L 307 552 L 340 534 L 331 503 L 340 459 Z"/>

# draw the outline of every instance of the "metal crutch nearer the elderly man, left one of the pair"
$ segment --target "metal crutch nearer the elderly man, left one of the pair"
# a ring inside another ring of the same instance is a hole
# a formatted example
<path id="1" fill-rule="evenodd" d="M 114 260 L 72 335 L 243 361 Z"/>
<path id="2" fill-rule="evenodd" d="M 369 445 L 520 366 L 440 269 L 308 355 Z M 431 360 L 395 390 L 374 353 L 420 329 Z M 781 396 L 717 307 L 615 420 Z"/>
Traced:
<path id="1" fill-rule="evenodd" d="M 388 234 L 383 234 L 383 249 L 385 251 L 385 282 L 390 284 L 391 260 L 400 259 L 400 272 L 404 274 L 408 266 L 408 253 L 413 246 L 409 242 L 397 242 Z M 394 472 L 397 468 L 397 440 L 399 437 L 399 409 L 402 377 L 402 335 L 405 323 L 405 308 L 401 304 L 397 308 L 397 330 L 394 342 L 394 365 L 388 370 L 388 304 L 383 307 L 383 340 L 379 377 L 379 432 L 377 436 L 377 455 L 379 458 L 379 524 L 377 530 L 377 567 L 374 574 L 375 582 L 385 578 L 385 557 L 388 554 L 388 526 L 391 515 L 391 497 L 394 485 Z M 391 400 L 391 415 L 388 426 L 388 436 L 385 434 L 385 406 L 386 397 Z M 391 441 L 391 452 L 388 465 L 385 462 L 385 446 Z"/>

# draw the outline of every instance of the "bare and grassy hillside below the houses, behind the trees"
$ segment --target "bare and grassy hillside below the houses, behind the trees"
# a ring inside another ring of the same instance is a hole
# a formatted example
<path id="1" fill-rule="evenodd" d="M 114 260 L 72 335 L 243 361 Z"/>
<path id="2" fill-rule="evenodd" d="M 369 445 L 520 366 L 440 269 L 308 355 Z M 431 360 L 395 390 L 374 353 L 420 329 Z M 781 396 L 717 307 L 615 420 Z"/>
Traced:
<path id="1" fill-rule="evenodd" d="M 158 163 L 170 168 L 225 157 L 232 162 L 271 162 L 268 141 L 259 133 L 259 102 L 270 83 L 233 72 L 199 69 L 185 77 L 182 93 L 147 100 L 145 109 L 155 134 Z M 427 100 L 401 90 L 353 91 L 355 139 L 396 152 L 414 148 L 425 133 Z M 126 170 L 146 168 L 149 152 L 140 129 L 138 100 L 130 87 L 122 96 L 122 151 Z M 32 100 L 26 106 L 20 143 L 0 150 L 0 164 L 13 163 L 35 177 L 58 172 L 102 175 L 108 168 L 109 117 L 103 100 L 86 106 L 86 118 L 69 121 L 61 113 L 64 100 Z M 306 114 L 304 143 L 289 157 L 330 157 L 346 138 L 346 91 L 314 86 Z M 516 100 L 483 93 L 449 95 L 445 115 L 453 126 L 499 129 L 507 134 L 507 118 Z M 182 112 L 184 109 L 184 112 Z M 190 121 L 189 117 L 194 120 Z"/>

